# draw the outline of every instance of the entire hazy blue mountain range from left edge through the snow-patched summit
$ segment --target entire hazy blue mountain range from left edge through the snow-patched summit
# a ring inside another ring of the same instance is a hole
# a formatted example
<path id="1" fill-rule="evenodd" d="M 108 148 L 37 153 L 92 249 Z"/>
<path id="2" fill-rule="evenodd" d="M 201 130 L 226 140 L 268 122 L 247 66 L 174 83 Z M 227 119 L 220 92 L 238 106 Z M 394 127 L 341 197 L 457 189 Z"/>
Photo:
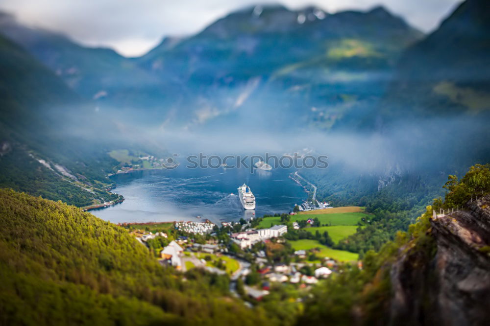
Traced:
<path id="1" fill-rule="evenodd" d="M 294 121 L 329 129 L 345 112 L 372 106 L 401 50 L 422 36 L 383 7 L 330 15 L 279 5 L 233 12 L 192 37 L 166 38 L 135 60 L 7 14 L 0 32 L 126 122 L 216 120 L 211 128 L 261 115 L 275 117 L 272 127 Z"/>

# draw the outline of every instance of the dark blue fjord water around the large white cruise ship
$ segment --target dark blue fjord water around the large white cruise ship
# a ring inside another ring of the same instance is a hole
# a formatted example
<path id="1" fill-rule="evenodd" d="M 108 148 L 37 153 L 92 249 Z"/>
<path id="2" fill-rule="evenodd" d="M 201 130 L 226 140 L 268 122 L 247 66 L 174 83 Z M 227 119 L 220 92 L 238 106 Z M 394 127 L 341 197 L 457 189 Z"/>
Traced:
<path id="1" fill-rule="evenodd" d="M 293 209 L 307 194 L 289 175 L 292 169 L 270 172 L 246 168 L 146 170 L 112 177 L 113 190 L 125 200 L 115 206 L 92 210 L 112 223 L 165 221 L 238 221 Z M 244 210 L 238 186 L 246 183 L 256 198 L 255 210 Z M 197 219 L 196 216 L 201 216 Z"/>

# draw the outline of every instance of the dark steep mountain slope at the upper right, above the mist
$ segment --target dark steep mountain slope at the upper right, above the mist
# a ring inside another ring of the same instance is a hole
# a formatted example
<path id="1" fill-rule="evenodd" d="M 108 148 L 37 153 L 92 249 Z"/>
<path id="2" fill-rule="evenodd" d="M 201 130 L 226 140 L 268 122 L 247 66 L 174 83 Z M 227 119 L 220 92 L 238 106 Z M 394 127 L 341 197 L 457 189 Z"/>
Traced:
<path id="1" fill-rule="evenodd" d="M 464 1 L 441 26 L 410 47 L 381 111 L 390 123 L 406 116 L 468 114 L 488 118 L 490 108 L 490 9 Z"/>

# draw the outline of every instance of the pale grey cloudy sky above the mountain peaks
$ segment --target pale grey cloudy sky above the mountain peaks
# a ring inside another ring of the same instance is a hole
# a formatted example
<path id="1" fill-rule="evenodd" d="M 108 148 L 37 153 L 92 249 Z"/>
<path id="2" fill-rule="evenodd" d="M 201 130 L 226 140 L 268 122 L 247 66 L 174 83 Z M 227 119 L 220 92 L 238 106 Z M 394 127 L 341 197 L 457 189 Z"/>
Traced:
<path id="1" fill-rule="evenodd" d="M 383 4 L 419 29 L 431 31 L 461 0 L 1 0 L 0 10 L 84 45 L 137 56 L 165 35 L 196 33 L 230 11 L 278 2 L 291 9 L 313 4 L 330 13 Z"/>

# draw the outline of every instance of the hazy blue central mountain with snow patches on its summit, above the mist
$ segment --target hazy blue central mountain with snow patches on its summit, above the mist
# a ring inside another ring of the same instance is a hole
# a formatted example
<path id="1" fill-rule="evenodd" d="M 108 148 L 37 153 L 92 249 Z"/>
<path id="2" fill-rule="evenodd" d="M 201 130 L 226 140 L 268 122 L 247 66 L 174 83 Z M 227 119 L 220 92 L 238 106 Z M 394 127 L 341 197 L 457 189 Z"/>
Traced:
<path id="1" fill-rule="evenodd" d="M 279 127 L 299 117 L 330 128 L 354 103 L 383 93 L 398 54 L 421 35 L 382 7 L 330 15 L 255 6 L 138 62 L 185 85 L 171 111 L 177 120 L 261 115 Z"/>

